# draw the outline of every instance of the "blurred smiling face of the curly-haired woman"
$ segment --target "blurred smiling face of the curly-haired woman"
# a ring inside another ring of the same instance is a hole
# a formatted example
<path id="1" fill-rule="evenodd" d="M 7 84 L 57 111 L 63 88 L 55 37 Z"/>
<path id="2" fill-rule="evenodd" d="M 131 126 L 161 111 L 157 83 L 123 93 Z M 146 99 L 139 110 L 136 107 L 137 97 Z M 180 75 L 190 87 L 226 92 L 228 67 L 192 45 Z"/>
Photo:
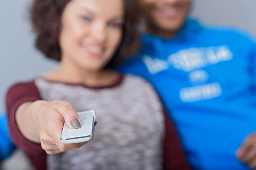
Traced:
<path id="1" fill-rule="evenodd" d="M 90 71 L 102 69 L 122 39 L 123 5 L 123 0 L 71 0 L 62 16 L 62 59 Z"/>

